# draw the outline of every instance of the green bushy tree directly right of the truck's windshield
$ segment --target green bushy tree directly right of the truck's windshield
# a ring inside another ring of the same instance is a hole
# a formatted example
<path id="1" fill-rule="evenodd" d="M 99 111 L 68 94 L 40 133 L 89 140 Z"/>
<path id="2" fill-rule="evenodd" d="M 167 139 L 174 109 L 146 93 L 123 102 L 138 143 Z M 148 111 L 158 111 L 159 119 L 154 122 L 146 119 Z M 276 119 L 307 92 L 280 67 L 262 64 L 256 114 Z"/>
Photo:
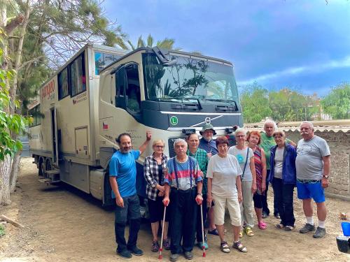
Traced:
<path id="1" fill-rule="evenodd" d="M 260 122 L 265 117 L 272 115 L 272 110 L 269 108 L 269 92 L 257 82 L 244 87 L 240 101 L 244 122 Z"/>

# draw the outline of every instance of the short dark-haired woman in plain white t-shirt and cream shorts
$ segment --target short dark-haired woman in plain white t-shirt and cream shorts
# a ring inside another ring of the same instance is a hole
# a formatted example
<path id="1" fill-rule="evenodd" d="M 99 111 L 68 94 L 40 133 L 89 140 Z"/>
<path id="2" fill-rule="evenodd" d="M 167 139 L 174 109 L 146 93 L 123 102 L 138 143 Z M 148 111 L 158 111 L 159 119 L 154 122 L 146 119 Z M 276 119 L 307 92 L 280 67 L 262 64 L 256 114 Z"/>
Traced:
<path id="1" fill-rule="evenodd" d="M 246 247 L 239 241 L 239 231 L 241 230 L 239 202 L 242 201 L 240 175 L 242 172 L 236 157 L 228 154 L 228 145 L 228 138 L 225 136 L 216 138 L 218 154 L 209 159 L 207 170 L 207 202 L 209 207 L 211 201 L 214 202 L 214 221 L 221 240 L 221 251 L 230 252 L 228 242 L 225 241 L 223 226 L 227 205 L 233 228 L 232 247 L 241 252 L 247 252 Z"/>

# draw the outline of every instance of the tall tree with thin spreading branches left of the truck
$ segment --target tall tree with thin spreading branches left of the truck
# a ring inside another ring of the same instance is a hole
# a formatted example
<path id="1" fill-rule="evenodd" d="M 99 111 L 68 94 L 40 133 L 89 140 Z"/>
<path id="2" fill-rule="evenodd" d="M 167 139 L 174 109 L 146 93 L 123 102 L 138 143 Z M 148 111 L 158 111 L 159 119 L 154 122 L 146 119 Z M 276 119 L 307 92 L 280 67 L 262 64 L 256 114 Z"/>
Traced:
<path id="1" fill-rule="evenodd" d="M 48 74 L 85 43 L 121 45 L 125 37 L 120 27 L 109 23 L 94 0 L 0 0 L 0 9 L 0 28 L 6 32 L 3 68 L 17 71 L 8 83 L 9 104 L 20 97 L 21 105 L 26 105 Z M 25 110 L 8 108 L 10 115 Z M 16 132 L 10 135 L 16 140 Z M 15 189 L 20 151 L 12 157 L 12 167 L 6 159 L 0 163 L 0 172 L 1 176 L 10 177 L 11 188 Z"/>

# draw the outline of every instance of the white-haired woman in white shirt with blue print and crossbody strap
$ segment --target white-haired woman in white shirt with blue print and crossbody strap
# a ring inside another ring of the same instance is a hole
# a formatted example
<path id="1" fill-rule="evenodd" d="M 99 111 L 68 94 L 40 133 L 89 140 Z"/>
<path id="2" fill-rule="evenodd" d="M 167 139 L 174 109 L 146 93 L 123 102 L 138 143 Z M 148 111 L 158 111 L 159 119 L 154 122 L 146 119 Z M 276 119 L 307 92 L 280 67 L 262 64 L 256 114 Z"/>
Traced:
<path id="1" fill-rule="evenodd" d="M 256 191 L 256 174 L 254 153 L 251 148 L 246 145 L 246 131 L 244 129 L 237 129 L 235 131 L 237 145 L 230 147 L 228 154 L 233 154 L 237 157 L 239 166 L 241 166 L 241 190 L 243 194 L 243 201 L 241 203 L 241 232 L 239 235 L 243 236 L 243 229 L 246 235 L 253 236 L 253 194 Z"/>

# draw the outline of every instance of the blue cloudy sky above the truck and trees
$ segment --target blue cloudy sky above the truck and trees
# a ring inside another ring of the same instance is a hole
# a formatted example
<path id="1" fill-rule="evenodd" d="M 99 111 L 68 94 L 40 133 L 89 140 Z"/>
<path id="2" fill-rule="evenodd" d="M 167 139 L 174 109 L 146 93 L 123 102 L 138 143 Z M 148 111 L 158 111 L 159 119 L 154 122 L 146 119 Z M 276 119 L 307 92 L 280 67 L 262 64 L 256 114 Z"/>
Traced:
<path id="1" fill-rule="evenodd" d="M 256 81 L 324 96 L 350 82 L 350 1 L 106 0 L 102 7 L 133 43 L 151 33 L 232 61 L 240 87 Z"/>

